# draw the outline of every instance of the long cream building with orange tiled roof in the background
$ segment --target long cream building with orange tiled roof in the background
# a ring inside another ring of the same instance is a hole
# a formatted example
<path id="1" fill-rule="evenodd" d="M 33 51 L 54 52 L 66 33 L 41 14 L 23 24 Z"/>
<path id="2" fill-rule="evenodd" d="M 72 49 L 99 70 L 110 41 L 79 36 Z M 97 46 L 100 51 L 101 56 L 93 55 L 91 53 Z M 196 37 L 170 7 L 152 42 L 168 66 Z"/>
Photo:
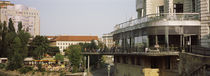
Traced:
<path id="1" fill-rule="evenodd" d="M 47 36 L 51 41 L 51 46 L 59 47 L 61 54 L 70 45 L 77 45 L 79 43 L 91 43 L 92 40 L 98 40 L 98 36 Z"/>

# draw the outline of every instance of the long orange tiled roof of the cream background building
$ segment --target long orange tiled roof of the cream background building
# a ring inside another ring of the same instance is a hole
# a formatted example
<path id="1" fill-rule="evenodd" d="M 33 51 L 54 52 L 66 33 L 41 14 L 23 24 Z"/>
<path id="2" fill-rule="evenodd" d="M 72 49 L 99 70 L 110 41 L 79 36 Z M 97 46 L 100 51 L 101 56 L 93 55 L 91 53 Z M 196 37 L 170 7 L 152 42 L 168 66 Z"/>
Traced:
<path id="1" fill-rule="evenodd" d="M 98 36 L 47 36 L 53 41 L 91 41 L 98 40 Z"/>

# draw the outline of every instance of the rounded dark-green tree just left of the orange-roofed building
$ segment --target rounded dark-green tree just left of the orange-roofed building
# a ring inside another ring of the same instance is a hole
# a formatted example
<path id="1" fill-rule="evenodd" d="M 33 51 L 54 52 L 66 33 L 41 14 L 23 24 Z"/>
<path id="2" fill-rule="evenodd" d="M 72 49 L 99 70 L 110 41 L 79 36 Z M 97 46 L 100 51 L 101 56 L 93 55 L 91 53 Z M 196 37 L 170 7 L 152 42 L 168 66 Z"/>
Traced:
<path id="1" fill-rule="evenodd" d="M 30 43 L 29 55 L 35 59 L 43 58 L 46 51 L 49 49 L 50 41 L 44 36 L 36 36 Z"/>

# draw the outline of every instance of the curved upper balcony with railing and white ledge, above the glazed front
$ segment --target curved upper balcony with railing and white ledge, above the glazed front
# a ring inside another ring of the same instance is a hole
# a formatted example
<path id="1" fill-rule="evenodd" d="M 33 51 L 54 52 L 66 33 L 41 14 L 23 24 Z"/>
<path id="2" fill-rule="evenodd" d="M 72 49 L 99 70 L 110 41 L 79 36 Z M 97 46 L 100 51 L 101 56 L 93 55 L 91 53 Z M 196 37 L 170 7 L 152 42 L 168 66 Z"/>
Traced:
<path id="1" fill-rule="evenodd" d="M 120 32 L 126 32 L 134 29 L 140 29 L 147 26 L 158 25 L 196 25 L 200 26 L 200 14 L 199 13 L 160 13 L 150 14 L 139 19 L 133 19 L 120 24 L 117 24 L 114 28 L 114 34 Z M 159 21 L 159 22 L 158 22 Z M 155 24 L 152 24 L 155 22 Z M 151 23 L 152 25 L 147 25 Z"/>

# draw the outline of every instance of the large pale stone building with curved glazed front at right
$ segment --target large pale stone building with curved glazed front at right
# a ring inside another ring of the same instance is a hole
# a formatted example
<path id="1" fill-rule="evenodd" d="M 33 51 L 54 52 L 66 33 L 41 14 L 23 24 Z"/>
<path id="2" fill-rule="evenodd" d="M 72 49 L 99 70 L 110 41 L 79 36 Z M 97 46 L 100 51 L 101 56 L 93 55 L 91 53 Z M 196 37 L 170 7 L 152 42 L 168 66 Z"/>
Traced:
<path id="1" fill-rule="evenodd" d="M 207 3 L 136 0 L 138 18 L 116 25 L 113 31 L 115 76 L 179 75 L 179 53 L 191 46 L 209 46 Z"/>

